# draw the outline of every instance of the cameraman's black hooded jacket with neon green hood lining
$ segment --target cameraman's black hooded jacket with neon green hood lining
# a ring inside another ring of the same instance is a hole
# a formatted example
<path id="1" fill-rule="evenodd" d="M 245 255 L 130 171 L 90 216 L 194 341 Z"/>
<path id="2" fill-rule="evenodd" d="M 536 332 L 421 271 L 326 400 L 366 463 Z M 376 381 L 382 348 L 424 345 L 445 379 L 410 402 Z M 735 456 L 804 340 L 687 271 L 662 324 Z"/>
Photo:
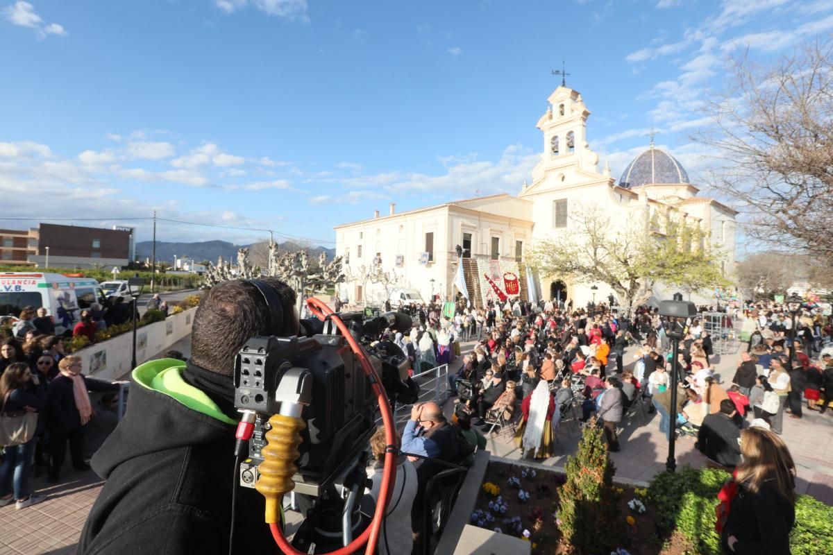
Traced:
<path id="1" fill-rule="evenodd" d="M 92 457 L 107 482 L 77 553 L 228 553 L 232 379 L 175 359 L 142 364 L 132 379 L 127 414 Z M 279 553 L 264 508 L 260 493 L 238 488 L 235 553 Z"/>

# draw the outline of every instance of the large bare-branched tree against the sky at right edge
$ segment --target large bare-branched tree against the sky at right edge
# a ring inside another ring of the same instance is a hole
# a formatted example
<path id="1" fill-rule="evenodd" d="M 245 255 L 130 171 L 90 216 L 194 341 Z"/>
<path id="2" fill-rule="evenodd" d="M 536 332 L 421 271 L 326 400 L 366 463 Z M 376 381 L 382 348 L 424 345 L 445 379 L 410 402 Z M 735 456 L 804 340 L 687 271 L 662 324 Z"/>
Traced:
<path id="1" fill-rule="evenodd" d="M 697 140 L 720 163 L 711 185 L 733 197 L 746 235 L 767 245 L 833 256 L 833 43 L 817 40 L 761 67 L 734 60 L 730 85 L 709 107 Z"/>

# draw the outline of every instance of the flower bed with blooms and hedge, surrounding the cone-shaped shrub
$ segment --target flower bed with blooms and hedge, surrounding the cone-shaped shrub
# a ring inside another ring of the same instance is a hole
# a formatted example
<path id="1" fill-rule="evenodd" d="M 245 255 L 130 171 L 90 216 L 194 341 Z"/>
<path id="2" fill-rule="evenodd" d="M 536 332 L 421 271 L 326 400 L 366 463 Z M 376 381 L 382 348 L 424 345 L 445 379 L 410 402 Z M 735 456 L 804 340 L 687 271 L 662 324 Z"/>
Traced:
<path id="1" fill-rule="evenodd" d="M 720 470 L 686 467 L 658 474 L 646 489 L 615 485 L 613 503 L 621 518 L 598 524 L 598 533 L 611 538 L 611 548 L 603 555 L 721 555 L 714 509 L 728 476 Z M 491 462 L 470 523 L 525 538 L 532 553 L 576 553 L 560 529 L 559 492 L 565 482 L 564 473 Z M 833 508 L 799 496 L 790 543 L 793 555 L 833 553 Z"/>

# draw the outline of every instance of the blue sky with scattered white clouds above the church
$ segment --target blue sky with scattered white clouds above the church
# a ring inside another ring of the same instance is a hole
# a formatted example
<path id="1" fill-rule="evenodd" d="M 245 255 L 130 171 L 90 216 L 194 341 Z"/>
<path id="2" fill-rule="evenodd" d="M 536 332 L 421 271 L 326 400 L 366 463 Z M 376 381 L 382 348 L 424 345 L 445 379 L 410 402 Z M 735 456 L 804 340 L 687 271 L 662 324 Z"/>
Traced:
<path id="1" fill-rule="evenodd" d="M 562 61 L 600 167 L 654 130 L 700 184 L 730 58 L 831 31 L 833 0 L 0 0 L 0 227 L 332 247 L 390 202 L 516 194 Z"/>

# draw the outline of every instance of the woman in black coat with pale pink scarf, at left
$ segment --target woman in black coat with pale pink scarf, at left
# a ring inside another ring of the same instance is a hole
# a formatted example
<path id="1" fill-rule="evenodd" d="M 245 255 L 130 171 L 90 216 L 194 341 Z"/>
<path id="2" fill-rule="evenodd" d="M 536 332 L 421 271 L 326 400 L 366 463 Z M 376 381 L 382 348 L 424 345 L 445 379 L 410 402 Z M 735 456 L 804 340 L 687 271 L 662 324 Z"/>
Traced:
<path id="1" fill-rule="evenodd" d="M 84 462 L 84 426 L 95 416 L 92 413 L 88 390 L 118 391 L 117 384 L 100 379 L 87 378 L 81 374 L 81 357 L 68 355 L 58 363 L 61 373 L 49 383 L 47 389 L 47 411 L 49 432 L 49 467 L 47 477 L 50 483 L 57 483 L 63 459 L 67 453 L 72 457 L 72 467 L 89 470 Z M 80 401 L 80 402 L 79 402 Z"/>

